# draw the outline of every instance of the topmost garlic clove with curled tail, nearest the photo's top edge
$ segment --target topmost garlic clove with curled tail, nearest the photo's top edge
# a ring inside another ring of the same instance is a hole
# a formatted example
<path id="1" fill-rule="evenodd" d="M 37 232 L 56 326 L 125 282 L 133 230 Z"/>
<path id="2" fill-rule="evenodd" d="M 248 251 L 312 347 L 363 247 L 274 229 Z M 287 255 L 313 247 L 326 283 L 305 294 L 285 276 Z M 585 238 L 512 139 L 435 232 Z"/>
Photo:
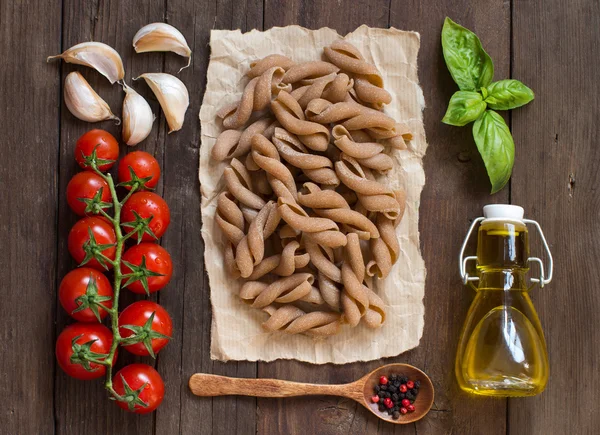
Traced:
<path id="1" fill-rule="evenodd" d="M 192 50 L 185 37 L 175 27 L 165 23 L 148 24 L 138 30 L 133 37 L 133 48 L 136 53 L 172 51 L 188 58 L 188 64 L 183 68 L 190 66 L 192 61 Z"/>

